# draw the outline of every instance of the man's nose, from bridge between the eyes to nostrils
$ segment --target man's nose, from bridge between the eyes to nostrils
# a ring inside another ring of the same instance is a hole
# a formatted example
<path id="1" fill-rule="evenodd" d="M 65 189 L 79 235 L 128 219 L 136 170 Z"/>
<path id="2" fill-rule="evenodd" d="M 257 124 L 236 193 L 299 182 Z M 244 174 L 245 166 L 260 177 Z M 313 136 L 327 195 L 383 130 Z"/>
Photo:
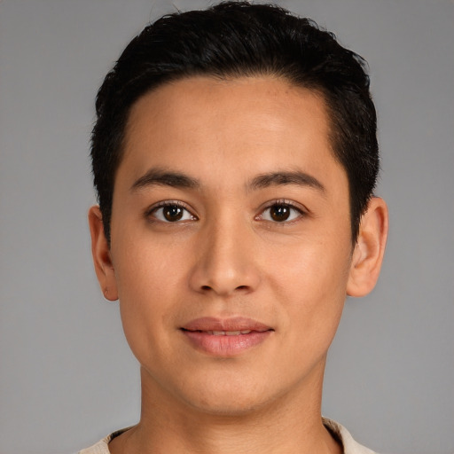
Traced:
<path id="1" fill-rule="evenodd" d="M 209 223 L 199 237 L 190 276 L 193 290 L 228 297 L 257 288 L 261 277 L 254 231 L 244 220 Z"/>

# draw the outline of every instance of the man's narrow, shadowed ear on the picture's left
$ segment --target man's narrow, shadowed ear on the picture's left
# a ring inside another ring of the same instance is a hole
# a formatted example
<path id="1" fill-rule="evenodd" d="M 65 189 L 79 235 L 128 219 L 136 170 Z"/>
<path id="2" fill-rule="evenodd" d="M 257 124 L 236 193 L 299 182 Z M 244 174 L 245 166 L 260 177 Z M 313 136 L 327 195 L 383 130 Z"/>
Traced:
<path id="1" fill-rule="evenodd" d="M 90 207 L 89 225 L 91 235 L 91 254 L 95 265 L 99 286 L 106 300 L 118 300 L 115 270 L 110 249 L 104 233 L 103 216 L 98 206 Z"/>

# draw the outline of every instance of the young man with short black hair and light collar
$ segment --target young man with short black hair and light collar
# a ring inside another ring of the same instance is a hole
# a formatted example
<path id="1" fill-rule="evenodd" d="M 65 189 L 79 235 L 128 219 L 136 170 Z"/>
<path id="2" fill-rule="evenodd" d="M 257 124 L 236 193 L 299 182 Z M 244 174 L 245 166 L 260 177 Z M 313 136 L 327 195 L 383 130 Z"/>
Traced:
<path id="1" fill-rule="evenodd" d="M 166 16 L 97 98 L 95 269 L 141 364 L 88 453 L 368 453 L 322 419 L 347 295 L 387 237 L 364 60 L 276 6 Z"/>

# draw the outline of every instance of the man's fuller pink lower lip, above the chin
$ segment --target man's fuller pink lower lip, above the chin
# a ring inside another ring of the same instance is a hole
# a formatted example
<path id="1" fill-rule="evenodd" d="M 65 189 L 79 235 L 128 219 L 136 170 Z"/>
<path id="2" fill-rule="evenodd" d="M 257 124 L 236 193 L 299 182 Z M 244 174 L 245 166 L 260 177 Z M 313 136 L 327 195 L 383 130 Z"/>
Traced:
<path id="1" fill-rule="evenodd" d="M 249 348 L 260 345 L 268 338 L 271 331 L 252 331 L 247 334 L 238 334 L 236 336 L 215 336 L 203 331 L 184 331 L 192 345 L 198 350 L 214 356 L 235 356 L 243 353 Z"/>

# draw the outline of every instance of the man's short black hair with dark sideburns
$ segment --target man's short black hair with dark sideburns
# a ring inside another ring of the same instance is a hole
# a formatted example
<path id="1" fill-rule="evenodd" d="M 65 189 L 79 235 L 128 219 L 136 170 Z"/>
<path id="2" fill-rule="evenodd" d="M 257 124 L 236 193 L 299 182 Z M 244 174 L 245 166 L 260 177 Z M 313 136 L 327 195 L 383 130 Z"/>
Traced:
<path id="1" fill-rule="evenodd" d="M 356 242 L 380 167 L 365 60 L 313 20 L 274 4 L 233 1 L 161 17 L 128 44 L 106 75 L 96 100 L 91 159 L 109 245 L 114 180 L 131 106 L 162 84 L 198 75 L 277 76 L 323 96 L 333 155 L 348 176 Z"/>

